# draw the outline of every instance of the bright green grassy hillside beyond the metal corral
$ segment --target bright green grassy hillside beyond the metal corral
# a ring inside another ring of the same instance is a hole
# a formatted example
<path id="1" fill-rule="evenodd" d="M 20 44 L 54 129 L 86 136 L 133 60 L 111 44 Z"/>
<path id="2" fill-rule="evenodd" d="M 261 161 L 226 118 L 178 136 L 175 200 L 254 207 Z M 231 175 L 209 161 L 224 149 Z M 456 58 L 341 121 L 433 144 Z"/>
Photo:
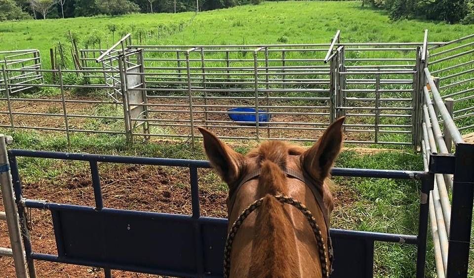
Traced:
<path id="1" fill-rule="evenodd" d="M 46 54 L 58 41 L 69 43 L 68 30 L 77 34 L 79 46 L 84 47 L 89 37 L 99 36 L 104 48 L 113 41 L 107 29 L 110 24 L 118 25 L 116 40 L 130 32 L 136 43 L 142 32 L 148 34 L 143 36 L 143 43 L 158 45 L 327 43 L 336 30 L 341 30 L 343 42 L 423 41 L 425 29 L 430 30 L 431 41 L 449 41 L 471 34 L 473 28 L 417 20 L 391 22 L 383 11 L 361 8 L 359 1 L 266 2 L 194 16 L 188 12 L 1 22 L 0 50 L 37 48 Z M 164 27 L 180 24 L 183 32 L 159 34 Z"/>

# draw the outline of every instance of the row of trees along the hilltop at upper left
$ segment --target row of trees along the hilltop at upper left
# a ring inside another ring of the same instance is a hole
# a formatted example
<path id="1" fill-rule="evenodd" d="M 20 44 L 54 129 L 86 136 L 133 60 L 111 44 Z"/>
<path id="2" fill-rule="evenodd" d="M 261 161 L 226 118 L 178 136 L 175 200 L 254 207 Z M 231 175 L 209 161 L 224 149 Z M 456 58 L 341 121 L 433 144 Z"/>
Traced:
<path id="1" fill-rule="evenodd" d="M 184 12 L 258 4 L 264 0 L 0 0 L 0 21 L 135 12 Z"/>

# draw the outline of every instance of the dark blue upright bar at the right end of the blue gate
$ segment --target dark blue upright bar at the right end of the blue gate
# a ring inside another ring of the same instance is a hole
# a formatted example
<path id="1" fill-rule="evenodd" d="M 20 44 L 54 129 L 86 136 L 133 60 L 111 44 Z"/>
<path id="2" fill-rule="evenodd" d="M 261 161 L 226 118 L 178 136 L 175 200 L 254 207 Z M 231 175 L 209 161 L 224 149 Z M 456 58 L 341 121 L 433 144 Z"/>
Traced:
<path id="1" fill-rule="evenodd" d="M 428 211 L 430 207 L 430 191 L 435 186 L 435 174 L 425 174 L 421 177 L 420 214 L 418 217 L 416 277 L 425 277 L 426 242 L 428 233 Z"/>

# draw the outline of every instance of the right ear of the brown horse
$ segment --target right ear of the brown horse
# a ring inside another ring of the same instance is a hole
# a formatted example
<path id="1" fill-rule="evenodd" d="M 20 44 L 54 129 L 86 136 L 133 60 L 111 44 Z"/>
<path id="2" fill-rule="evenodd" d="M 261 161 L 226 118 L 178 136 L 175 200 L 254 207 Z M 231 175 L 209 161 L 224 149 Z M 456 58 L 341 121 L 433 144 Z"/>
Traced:
<path id="1" fill-rule="evenodd" d="M 301 156 L 304 172 L 316 181 L 324 181 L 341 151 L 344 119 L 345 117 L 341 117 L 332 123 L 319 140 Z"/>

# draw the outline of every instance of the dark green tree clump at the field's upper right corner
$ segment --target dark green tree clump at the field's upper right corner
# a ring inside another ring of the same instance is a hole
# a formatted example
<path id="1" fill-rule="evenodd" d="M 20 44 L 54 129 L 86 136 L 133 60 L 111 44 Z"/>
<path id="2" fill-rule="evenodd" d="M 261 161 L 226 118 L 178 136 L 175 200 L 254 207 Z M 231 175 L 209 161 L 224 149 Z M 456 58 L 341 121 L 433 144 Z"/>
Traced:
<path id="1" fill-rule="evenodd" d="M 386 9 L 393 20 L 423 18 L 474 24 L 474 0 L 362 0 L 362 6 Z"/>

